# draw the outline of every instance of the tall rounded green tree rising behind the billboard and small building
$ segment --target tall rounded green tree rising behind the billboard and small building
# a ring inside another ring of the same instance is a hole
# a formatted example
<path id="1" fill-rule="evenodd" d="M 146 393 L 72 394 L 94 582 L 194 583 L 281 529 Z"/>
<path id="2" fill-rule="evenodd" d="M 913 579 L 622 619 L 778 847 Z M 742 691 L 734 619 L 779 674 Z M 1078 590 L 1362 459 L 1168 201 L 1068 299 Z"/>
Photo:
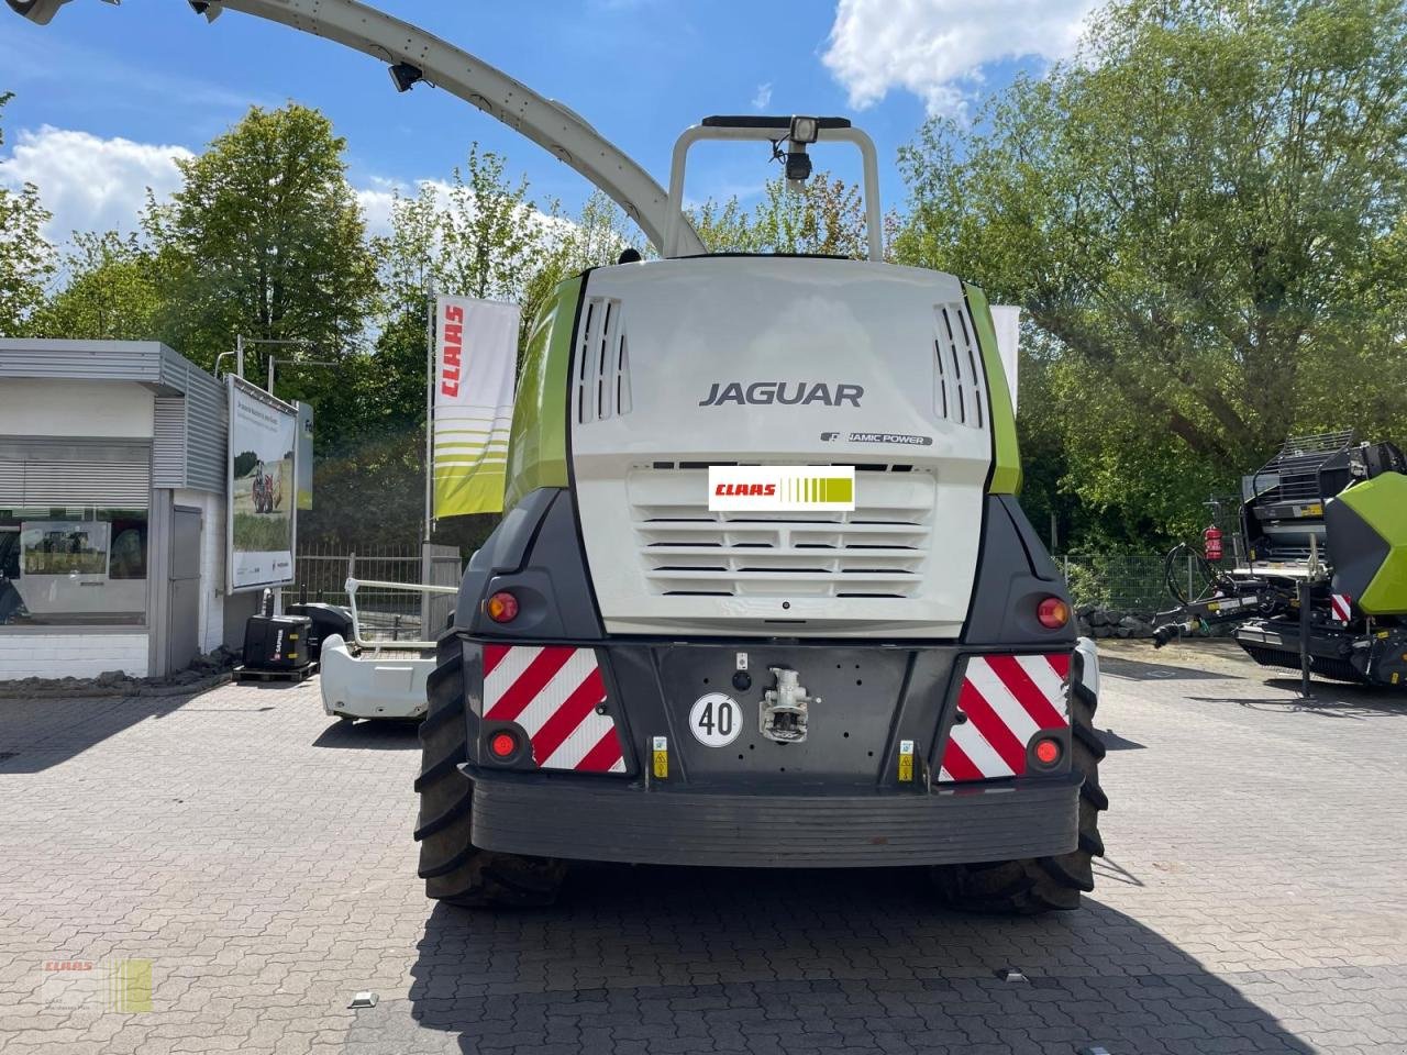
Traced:
<path id="1" fill-rule="evenodd" d="M 377 281 L 345 149 L 326 117 L 290 103 L 252 107 L 177 162 L 180 190 L 146 214 L 173 346 L 207 367 L 239 333 L 310 342 L 322 359 L 353 349 Z"/>

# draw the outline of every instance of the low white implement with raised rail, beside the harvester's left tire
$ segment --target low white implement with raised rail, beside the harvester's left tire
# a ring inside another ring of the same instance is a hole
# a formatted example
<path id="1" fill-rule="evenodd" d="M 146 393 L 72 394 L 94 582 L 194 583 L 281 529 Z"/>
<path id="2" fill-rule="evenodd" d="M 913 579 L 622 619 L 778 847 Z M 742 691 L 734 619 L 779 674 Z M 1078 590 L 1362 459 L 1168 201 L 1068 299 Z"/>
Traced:
<path id="1" fill-rule="evenodd" d="M 318 684 L 322 709 L 336 717 L 418 719 L 425 716 L 425 679 L 435 670 L 435 641 L 381 641 L 362 636 L 356 594 L 362 587 L 419 594 L 457 594 L 456 587 L 415 582 L 346 581 L 352 641 L 332 634 L 322 641 Z M 424 630 L 422 630 L 424 633 Z"/>

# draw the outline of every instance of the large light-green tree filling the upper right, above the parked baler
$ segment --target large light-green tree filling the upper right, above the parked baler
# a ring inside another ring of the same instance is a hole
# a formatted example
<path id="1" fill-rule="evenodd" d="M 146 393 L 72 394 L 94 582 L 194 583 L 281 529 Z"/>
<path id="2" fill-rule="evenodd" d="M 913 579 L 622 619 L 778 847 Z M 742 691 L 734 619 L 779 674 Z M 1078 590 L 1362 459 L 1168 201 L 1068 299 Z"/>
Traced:
<path id="1" fill-rule="evenodd" d="M 1152 540 L 1287 433 L 1407 433 L 1379 284 L 1404 148 L 1401 4 L 1116 3 L 1074 62 L 902 152 L 898 253 L 1024 308 L 1045 398 L 1023 437 L 1054 430 L 1057 490 L 1106 537 Z"/>

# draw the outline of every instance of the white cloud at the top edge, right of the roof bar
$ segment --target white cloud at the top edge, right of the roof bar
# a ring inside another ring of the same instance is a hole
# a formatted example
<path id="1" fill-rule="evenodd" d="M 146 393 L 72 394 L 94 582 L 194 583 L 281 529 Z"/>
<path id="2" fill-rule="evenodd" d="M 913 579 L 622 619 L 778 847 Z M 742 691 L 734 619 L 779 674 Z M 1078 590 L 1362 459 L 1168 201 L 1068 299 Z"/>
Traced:
<path id="1" fill-rule="evenodd" d="M 1092 7 L 1093 0 L 840 0 L 822 60 L 857 110 L 902 89 L 930 114 L 954 114 L 988 63 L 1068 56 Z"/>

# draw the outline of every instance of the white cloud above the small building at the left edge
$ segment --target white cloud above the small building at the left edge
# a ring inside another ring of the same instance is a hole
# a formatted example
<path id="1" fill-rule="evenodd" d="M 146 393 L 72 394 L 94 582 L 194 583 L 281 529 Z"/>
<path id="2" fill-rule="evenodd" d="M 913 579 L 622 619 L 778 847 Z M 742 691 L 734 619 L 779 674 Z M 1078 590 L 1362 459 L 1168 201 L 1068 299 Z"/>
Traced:
<path id="1" fill-rule="evenodd" d="M 0 184 L 35 184 L 53 214 L 45 235 L 65 242 L 75 231 L 135 231 L 146 188 L 158 200 L 170 194 L 180 186 L 176 159 L 191 156 L 184 146 L 103 139 L 44 125 L 15 136 L 14 151 L 0 160 Z"/>

